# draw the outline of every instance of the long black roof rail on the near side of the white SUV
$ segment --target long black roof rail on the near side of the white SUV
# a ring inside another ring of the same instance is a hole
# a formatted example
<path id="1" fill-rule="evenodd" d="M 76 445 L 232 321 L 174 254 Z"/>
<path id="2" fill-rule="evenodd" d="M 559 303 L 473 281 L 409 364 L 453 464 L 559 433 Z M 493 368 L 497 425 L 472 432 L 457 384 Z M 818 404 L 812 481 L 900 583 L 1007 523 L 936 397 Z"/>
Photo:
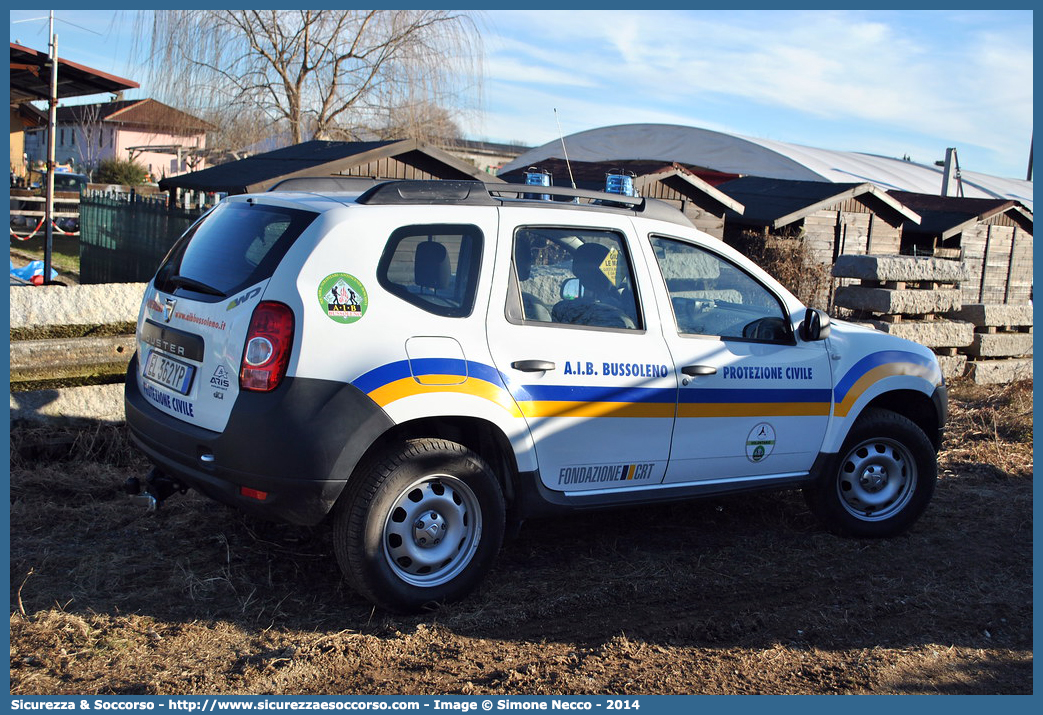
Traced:
<path id="1" fill-rule="evenodd" d="M 534 196 L 549 195 L 552 200 Z M 513 198 L 509 198 L 511 195 Z M 580 202 L 586 199 L 587 203 Z M 674 206 L 657 199 L 609 194 L 567 187 L 538 187 L 524 183 L 484 183 L 470 180 L 391 180 L 379 183 L 356 199 L 357 203 L 457 204 L 495 206 L 525 203 L 551 208 L 607 209 L 639 214 L 648 218 L 690 226 L 692 221 Z"/>

